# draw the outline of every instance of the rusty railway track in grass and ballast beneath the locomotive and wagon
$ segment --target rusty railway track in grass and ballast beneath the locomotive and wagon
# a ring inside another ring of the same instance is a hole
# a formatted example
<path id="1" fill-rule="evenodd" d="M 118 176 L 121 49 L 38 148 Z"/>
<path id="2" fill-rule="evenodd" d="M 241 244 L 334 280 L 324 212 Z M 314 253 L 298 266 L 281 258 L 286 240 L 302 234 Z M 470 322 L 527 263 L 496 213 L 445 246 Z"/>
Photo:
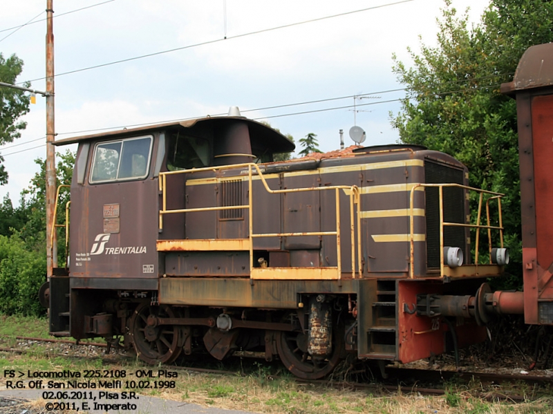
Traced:
<path id="1" fill-rule="evenodd" d="M 14 337 L 10 337 L 13 339 Z M 54 344 L 71 344 L 73 346 L 97 346 L 106 348 L 106 344 L 95 342 L 77 342 L 68 341 L 66 339 L 46 339 L 38 337 L 15 337 L 19 341 L 30 342 L 44 342 Z M 21 349 L 21 348 L 3 348 L 0 347 L 0 352 L 25 354 L 26 352 L 36 352 L 36 350 Z M 49 357 L 65 357 L 75 359 L 102 359 L 106 364 L 114 364 L 121 359 L 135 359 L 126 355 L 114 355 L 114 357 L 107 357 L 94 355 L 68 355 L 55 354 L 52 352 L 45 352 Z M 198 368 L 193 366 L 160 366 L 160 368 L 170 368 L 171 370 L 178 371 L 191 371 L 196 373 L 210 373 L 217 375 L 236 375 L 236 371 Z M 361 373 L 363 370 L 356 370 L 356 373 Z M 273 377 L 277 379 L 277 377 Z M 447 393 L 447 387 L 445 384 L 469 384 L 479 383 L 482 388 L 489 388 L 489 391 L 472 392 L 474 397 L 486 399 L 487 401 L 507 401 L 507 402 L 525 402 L 532 399 L 532 395 L 518 395 L 512 392 L 500 392 L 498 389 L 503 388 L 505 384 L 525 384 L 526 386 L 534 389 L 536 395 L 540 389 L 547 389 L 553 385 L 553 377 L 547 375 L 522 375 L 522 374 L 506 374 L 506 373 L 489 373 L 478 371 L 450 371 L 450 370 L 429 370 L 429 369 L 417 369 L 417 368 L 400 368 L 400 367 L 386 367 L 386 378 L 380 379 L 377 382 L 356 382 L 347 380 L 303 380 L 297 379 L 297 382 L 302 384 L 314 384 L 317 386 L 332 386 L 339 389 L 353 389 L 356 391 L 371 391 L 379 393 L 417 393 L 420 395 L 444 395 Z M 494 389 L 496 391 L 494 391 Z"/>

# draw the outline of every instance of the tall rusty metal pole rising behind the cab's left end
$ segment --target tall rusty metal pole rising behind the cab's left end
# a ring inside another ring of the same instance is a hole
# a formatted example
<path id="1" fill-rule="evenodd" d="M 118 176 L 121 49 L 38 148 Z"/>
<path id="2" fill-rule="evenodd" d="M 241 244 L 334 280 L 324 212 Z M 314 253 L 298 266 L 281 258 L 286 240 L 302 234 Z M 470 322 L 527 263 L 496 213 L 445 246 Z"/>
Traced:
<path id="1" fill-rule="evenodd" d="M 57 267 L 57 240 L 53 232 L 56 198 L 54 151 L 54 28 L 53 0 L 46 0 L 46 264 L 48 279 Z M 51 235 L 54 235 L 52 237 Z"/>

